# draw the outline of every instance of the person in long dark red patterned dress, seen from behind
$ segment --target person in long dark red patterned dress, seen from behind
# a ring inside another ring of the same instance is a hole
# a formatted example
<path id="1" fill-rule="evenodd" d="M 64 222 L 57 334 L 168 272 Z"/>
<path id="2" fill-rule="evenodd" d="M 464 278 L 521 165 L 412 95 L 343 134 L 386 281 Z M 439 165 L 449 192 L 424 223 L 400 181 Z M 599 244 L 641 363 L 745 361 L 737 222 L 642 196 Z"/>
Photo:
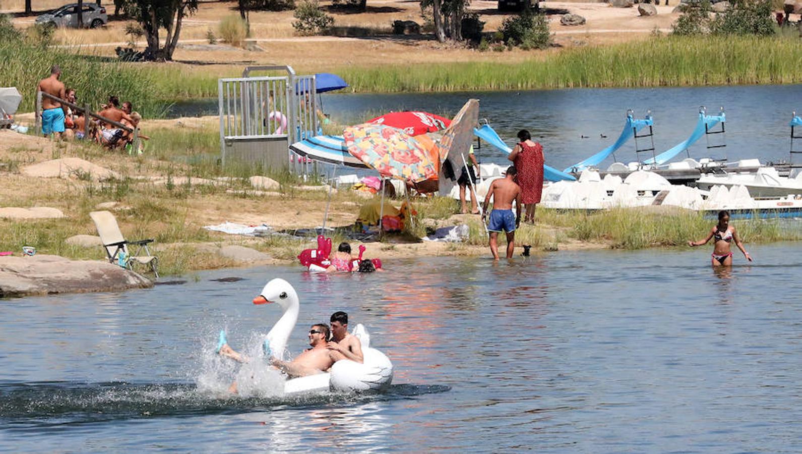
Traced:
<path id="1" fill-rule="evenodd" d="M 543 147 L 532 141 L 529 131 L 518 132 L 520 142 L 512 149 L 508 159 L 518 169 L 520 201 L 526 208 L 525 222 L 535 223 L 535 207 L 541 203 L 543 191 Z"/>

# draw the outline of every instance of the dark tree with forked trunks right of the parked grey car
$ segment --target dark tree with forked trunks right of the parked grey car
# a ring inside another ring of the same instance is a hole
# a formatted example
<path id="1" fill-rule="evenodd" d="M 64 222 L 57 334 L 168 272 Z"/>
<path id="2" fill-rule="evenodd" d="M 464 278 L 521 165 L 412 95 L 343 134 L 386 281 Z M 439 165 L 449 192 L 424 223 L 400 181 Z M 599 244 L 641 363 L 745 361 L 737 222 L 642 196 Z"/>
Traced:
<path id="1" fill-rule="evenodd" d="M 145 59 L 172 60 L 181 33 L 181 22 L 185 16 L 194 14 L 197 7 L 197 0 L 124 0 L 126 13 L 140 22 L 145 31 L 148 40 Z M 164 47 L 160 47 L 159 30 L 162 28 L 166 32 Z"/>

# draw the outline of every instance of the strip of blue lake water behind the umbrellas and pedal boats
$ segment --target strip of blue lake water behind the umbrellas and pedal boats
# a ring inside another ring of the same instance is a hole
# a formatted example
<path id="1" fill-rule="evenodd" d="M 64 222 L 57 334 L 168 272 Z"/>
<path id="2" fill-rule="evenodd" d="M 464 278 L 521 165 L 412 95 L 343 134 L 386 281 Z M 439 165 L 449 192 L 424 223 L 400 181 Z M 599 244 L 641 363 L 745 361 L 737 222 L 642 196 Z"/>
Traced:
<path id="1" fill-rule="evenodd" d="M 725 107 L 726 148 L 707 150 L 705 139 L 691 147 L 696 159 L 714 157 L 764 162 L 788 160 L 792 111 L 802 111 L 802 85 L 727 86 L 683 88 L 566 89 L 540 91 L 488 91 L 470 93 L 406 93 L 391 95 L 322 95 L 324 111 L 339 124 L 356 124 L 387 111 L 423 110 L 453 116 L 469 98 L 480 99 L 480 119 L 487 119 L 508 144 L 520 129 L 529 129 L 545 148 L 546 163 L 566 168 L 613 144 L 621 133 L 626 110 L 642 118 L 654 116 L 654 145 L 665 151 L 686 140 L 699 120 L 699 106 L 710 115 Z M 217 115 L 217 99 L 179 103 L 171 116 Z M 606 136 L 606 137 L 602 137 Z M 582 136 L 587 136 L 583 139 Z M 719 144 L 722 135 L 711 136 Z M 649 148 L 642 139 L 639 148 Z M 799 141 L 798 141 L 799 142 Z M 802 150 L 802 142 L 798 149 Z M 634 141 L 617 153 L 619 161 L 636 160 Z M 500 152 L 479 152 L 484 162 L 504 164 Z M 641 154 L 641 160 L 650 157 Z M 683 156 L 684 157 L 684 156 Z M 802 160 L 799 156 L 797 161 Z M 605 161 L 612 163 L 612 158 Z"/>

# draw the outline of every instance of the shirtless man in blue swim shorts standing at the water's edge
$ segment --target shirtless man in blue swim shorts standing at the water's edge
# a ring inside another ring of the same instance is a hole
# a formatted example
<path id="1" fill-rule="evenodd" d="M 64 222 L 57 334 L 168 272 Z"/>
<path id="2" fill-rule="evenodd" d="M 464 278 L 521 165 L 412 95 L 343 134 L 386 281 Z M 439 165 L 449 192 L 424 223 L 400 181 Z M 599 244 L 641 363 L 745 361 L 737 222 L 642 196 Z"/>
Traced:
<path id="1" fill-rule="evenodd" d="M 493 258 L 499 259 L 499 245 L 498 236 L 503 230 L 507 233 L 507 258 L 512 258 L 512 252 L 515 250 L 515 229 L 520 225 L 520 186 L 516 184 L 515 177 L 518 170 L 514 165 L 507 168 L 507 175 L 499 180 L 494 180 L 490 184 L 487 197 L 484 197 L 483 217 L 488 213 L 488 205 L 490 204 L 490 197 L 493 198 L 493 210 L 490 213 L 490 225 L 488 225 L 488 232 L 490 233 L 490 251 L 493 253 Z M 515 201 L 516 213 L 512 214 L 512 201 Z"/>

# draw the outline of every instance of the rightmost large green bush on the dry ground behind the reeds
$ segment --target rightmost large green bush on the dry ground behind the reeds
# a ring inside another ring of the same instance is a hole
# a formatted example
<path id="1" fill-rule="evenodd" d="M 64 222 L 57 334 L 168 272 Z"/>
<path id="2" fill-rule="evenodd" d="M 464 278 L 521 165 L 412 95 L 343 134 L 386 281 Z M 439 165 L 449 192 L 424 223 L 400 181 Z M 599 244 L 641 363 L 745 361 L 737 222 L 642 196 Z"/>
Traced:
<path id="1" fill-rule="evenodd" d="M 736 0 L 730 10 L 716 14 L 710 22 L 710 30 L 712 34 L 768 36 L 776 33 L 774 24 L 771 0 Z"/>

